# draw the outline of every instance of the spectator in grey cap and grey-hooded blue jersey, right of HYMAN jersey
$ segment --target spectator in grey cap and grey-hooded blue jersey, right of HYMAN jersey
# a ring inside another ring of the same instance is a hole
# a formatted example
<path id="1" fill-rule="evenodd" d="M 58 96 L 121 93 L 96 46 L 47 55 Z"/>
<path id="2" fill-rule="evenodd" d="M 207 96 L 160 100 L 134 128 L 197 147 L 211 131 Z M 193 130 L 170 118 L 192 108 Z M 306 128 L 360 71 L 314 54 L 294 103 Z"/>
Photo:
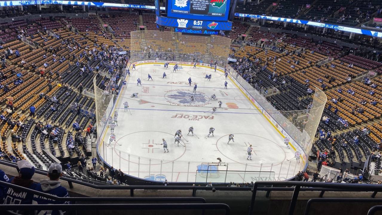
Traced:
<path id="1" fill-rule="evenodd" d="M 48 177 L 49 179 L 41 179 L 40 183 L 36 186 L 36 191 L 44 192 L 46 194 L 55 195 L 57 197 L 69 197 L 68 191 L 65 187 L 61 186 L 60 177 L 62 176 L 62 166 L 58 163 L 53 163 L 49 166 Z M 70 202 L 55 201 L 53 199 L 48 199 L 41 197 L 39 195 L 34 195 L 33 204 L 37 205 L 50 205 L 50 204 L 70 204 Z M 37 210 L 36 214 L 50 214 L 50 215 L 61 215 L 65 214 L 62 210 L 48 210 L 45 213 Z"/>

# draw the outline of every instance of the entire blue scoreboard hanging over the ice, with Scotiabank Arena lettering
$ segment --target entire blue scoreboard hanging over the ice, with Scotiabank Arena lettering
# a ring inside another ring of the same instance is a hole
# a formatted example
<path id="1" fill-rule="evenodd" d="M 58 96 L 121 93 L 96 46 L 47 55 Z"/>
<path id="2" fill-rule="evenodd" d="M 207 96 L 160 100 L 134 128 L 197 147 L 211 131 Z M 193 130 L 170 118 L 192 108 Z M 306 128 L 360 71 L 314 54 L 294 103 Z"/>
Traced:
<path id="1" fill-rule="evenodd" d="M 167 0 L 163 16 L 158 2 L 155 0 L 158 26 L 191 34 L 224 34 L 232 29 L 228 20 L 233 19 L 235 7 L 230 8 L 236 0 Z"/>

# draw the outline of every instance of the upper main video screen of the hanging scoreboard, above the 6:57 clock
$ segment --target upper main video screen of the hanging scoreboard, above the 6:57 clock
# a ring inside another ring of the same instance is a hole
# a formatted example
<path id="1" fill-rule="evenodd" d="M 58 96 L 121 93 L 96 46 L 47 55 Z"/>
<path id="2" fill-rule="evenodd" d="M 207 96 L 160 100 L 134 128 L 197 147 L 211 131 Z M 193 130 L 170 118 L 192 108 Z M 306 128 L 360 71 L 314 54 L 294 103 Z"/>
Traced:
<path id="1" fill-rule="evenodd" d="M 227 21 L 231 0 L 168 0 L 167 16 L 174 18 Z"/>

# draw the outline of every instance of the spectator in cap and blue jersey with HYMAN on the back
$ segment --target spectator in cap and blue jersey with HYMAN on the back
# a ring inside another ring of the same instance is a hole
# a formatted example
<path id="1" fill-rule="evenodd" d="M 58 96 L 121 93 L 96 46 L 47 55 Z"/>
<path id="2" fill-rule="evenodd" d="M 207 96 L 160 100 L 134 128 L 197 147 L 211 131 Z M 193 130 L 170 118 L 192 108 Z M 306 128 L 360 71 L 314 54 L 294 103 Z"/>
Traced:
<path id="1" fill-rule="evenodd" d="M 21 187 L 29 188 L 32 190 L 36 189 L 36 184 L 33 183 L 32 176 L 34 175 L 34 166 L 32 166 L 28 161 L 21 160 L 17 162 L 18 176 L 10 179 L 11 184 L 15 184 Z M 24 192 L 18 189 L 13 189 L 8 187 L 5 191 L 4 204 L 8 205 L 29 205 L 32 204 L 33 194 Z M 31 214 L 29 210 L 16 210 L 16 213 L 28 215 Z"/>

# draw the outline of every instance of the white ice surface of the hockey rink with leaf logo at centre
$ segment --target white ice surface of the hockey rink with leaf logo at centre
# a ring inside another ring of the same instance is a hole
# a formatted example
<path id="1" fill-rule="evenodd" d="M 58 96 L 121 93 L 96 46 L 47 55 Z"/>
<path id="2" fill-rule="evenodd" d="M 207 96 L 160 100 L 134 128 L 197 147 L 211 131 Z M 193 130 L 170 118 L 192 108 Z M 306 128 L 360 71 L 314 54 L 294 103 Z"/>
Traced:
<path id="1" fill-rule="evenodd" d="M 234 84 L 230 76 L 209 67 L 183 65 L 173 72 L 163 64 L 141 64 L 131 70 L 115 105 L 116 142 L 110 145 L 110 128 L 100 148 L 105 162 L 131 176 L 169 182 L 251 182 L 285 180 L 300 168 L 282 135 Z M 162 78 L 163 72 L 167 77 Z M 148 74 L 152 80 L 147 80 Z M 210 81 L 205 76 L 211 74 Z M 137 86 L 140 78 L 142 86 Z M 189 86 L 188 78 L 192 79 Z M 227 89 L 224 82 L 227 81 Z M 197 84 L 193 92 L 194 83 Z M 138 93 L 138 98 L 131 98 Z M 217 99 L 211 99 L 215 94 Z M 194 103 L 190 103 L 194 96 Z M 124 102 L 129 103 L 125 111 Z M 218 101 L 222 107 L 218 108 Z M 212 108 L 217 111 L 212 113 Z M 188 135 L 189 127 L 194 135 Z M 214 136 L 206 137 L 214 127 Z M 174 144 L 181 129 L 183 138 Z M 228 142 L 228 135 L 235 142 Z M 167 141 L 164 153 L 162 138 Z M 252 160 L 247 148 L 252 145 Z M 222 163 L 218 165 L 217 158 Z M 207 174 L 208 169 L 208 174 Z"/>

